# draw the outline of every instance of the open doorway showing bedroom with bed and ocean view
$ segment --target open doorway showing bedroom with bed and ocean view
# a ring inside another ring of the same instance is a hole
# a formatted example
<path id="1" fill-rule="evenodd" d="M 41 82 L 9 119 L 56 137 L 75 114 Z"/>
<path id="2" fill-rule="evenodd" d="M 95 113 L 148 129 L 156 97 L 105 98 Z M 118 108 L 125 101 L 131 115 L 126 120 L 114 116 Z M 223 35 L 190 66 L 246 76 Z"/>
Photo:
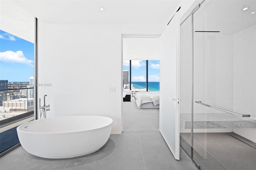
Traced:
<path id="1" fill-rule="evenodd" d="M 160 133 L 159 37 L 122 37 L 122 133 Z"/>

